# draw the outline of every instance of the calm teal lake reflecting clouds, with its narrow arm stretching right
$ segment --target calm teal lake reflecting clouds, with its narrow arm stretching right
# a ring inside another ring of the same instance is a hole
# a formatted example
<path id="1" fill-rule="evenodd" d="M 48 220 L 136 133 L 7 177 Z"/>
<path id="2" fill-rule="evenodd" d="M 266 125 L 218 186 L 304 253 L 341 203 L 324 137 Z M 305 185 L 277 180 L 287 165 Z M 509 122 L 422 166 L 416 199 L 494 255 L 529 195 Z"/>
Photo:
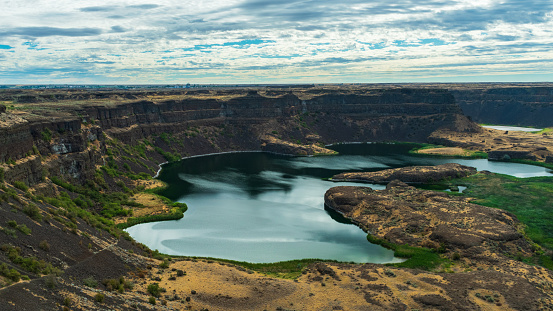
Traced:
<path id="1" fill-rule="evenodd" d="M 164 195 L 188 204 L 184 218 L 127 229 L 139 242 L 172 255 L 249 262 L 302 258 L 394 262 L 393 252 L 324 208 L 322 180 L 344 171 L 457 162 L 518 177 L 552 175 L 517 163 L 413 157 L 411 145 L 336 145 L 339 156 L 290 157 L 259 152 L 190 158 L 164 166 Z M 384 186 L 372 185 L 375 189 Z"/>

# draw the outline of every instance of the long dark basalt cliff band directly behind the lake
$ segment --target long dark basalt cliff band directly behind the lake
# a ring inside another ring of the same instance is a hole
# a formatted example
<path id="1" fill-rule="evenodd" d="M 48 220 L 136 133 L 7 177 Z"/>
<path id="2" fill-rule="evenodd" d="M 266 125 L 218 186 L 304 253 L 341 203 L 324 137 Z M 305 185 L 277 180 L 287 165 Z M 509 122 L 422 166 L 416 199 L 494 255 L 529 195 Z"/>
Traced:
<path id="1" fill-rule="evenodd" d="M 85 111 L 104 130 L 122 138 L 179 132 L 205 124 L 251 127 L 270 120 L 283 124 L 295 117 L 301 119 L 296 123 L 303 129 L 321 132 L 332 141 L 352 138 L 424 141 L 428 134 L 441 127 L 475 130 L 474 124 L 463 118 L 451 94 L 443 90 L 371 90 L 361 94 L 335 92 L 316 96 L 284 93 L 272 97 L 250 92 L 228 100 L 210 96 L 140 101 L 115 107 L 91 106 Z M 260 134 L 254 132 L 250 134 Z"/>

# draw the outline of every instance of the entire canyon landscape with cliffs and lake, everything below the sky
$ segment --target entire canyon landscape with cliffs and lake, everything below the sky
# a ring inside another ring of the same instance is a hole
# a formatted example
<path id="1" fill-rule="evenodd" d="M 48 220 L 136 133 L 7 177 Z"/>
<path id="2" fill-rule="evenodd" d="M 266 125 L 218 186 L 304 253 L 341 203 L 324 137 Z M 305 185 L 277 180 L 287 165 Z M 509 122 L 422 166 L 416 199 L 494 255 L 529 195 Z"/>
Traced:
<path id="1" fill-rule="evenodd" d="M 2 308 L 553 309 L 552 91 L 0 90 Z"/>

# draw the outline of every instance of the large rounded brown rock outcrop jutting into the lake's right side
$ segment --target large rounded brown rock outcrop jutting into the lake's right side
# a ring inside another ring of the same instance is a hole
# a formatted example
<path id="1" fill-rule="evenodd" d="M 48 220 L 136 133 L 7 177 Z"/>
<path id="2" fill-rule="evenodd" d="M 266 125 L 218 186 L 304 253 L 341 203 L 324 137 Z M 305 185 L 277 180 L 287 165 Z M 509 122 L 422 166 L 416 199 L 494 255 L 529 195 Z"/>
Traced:
<path id="1" fill-rule="evenodd" d="M 395 244 L 444 245 L 474 260 L 487 252 L 532 253 L 508 212 L 471 204 L 470 199 L 418 190 L 394 182 L 386 190 L 340 186 L 325 194 L 326 206 L 350 218 L 373 236 Z"/>

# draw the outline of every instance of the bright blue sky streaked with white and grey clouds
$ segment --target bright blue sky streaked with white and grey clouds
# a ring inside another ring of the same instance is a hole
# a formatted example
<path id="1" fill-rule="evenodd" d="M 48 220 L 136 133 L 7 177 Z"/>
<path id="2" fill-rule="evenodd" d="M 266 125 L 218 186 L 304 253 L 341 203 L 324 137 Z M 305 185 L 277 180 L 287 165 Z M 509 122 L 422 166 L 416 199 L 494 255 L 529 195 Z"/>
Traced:
<path id="1" fill-rule="evenodd" d="M 551 0 L 2 0 L 0 84 L 553 81 Z"/>

